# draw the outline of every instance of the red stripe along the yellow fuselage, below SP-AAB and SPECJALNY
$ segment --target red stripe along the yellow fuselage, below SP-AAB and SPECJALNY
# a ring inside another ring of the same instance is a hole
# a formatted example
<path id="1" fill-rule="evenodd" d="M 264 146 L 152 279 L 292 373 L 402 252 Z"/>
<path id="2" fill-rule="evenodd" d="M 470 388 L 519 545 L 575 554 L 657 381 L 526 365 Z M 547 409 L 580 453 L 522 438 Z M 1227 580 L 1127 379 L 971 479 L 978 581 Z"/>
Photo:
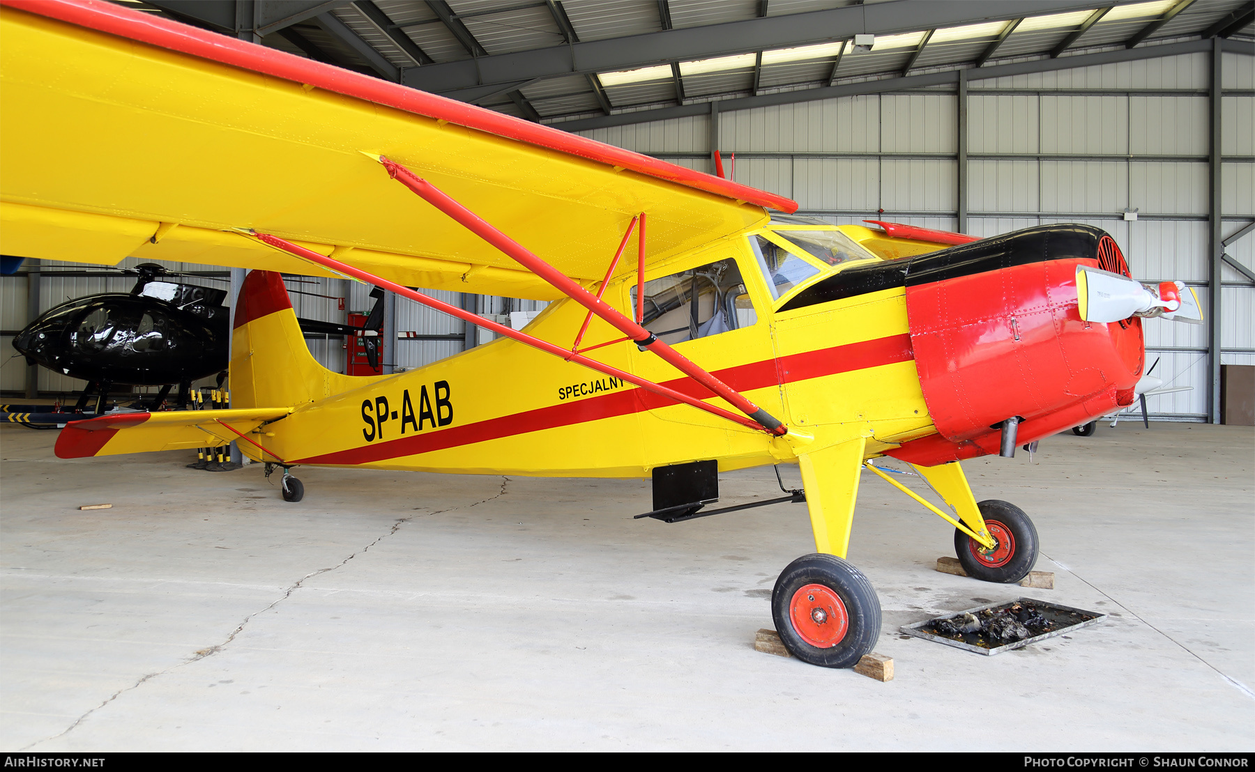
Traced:
<path id="1" fill-rule="evenodd" d="M 748 365 L 738 365 L 727 370 L 717 370 L 714 376 L 738 391 L 752 391 L 778 383 L 866 370 L 894 362 L 906 362 L 911 358 L 914 358 L 911 353 L 911 338 L 909 335 L 902 333 L 861 341 L 858 343 L 833 346 L 832 348 L 794 353 L 778 360 L 763 360 L 749 362 Z M 699 399 L 709 397 L 709 392 L 692 378 L 676 378 L 666 381 L 663 385 Z M 666 397 L 643 389 L 631 389 L 576 400 L 574 402 L 526 410 L 497 419 L 487 419 L 467 424 L 466 426 L 454 426 L 320 456 L 296 459 L 291 464 L 353 465 L 387 461 L 389 459 L 414 456 L 435 450 L 471 445 L 472 442 L 498 440 L 543 429 L 556 429 L 558 426 L 571 426 L 634 412 L 644 412 L 646 410 L 656 410 L 674 404 Z"/>

